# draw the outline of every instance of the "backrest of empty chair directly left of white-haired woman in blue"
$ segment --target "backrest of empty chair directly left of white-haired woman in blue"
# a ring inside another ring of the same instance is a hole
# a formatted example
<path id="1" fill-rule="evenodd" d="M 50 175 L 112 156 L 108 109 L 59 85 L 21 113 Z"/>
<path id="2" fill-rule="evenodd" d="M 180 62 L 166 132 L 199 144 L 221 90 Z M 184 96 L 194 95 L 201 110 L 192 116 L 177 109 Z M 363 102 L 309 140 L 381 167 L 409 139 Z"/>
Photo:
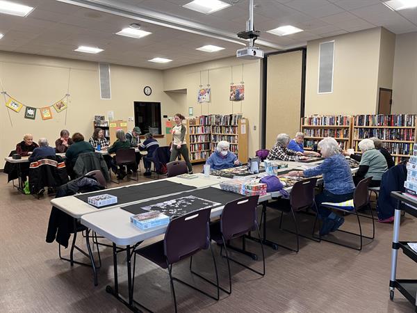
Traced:
<path id="1" fill-rule="evenodd" d="M 290 194 L 290 203 L 294 211 L 311 207 L 314 202 L 314 187 L 316 187 L 316 184 L 316 177 L 303 179 L 294 184 Z"/>

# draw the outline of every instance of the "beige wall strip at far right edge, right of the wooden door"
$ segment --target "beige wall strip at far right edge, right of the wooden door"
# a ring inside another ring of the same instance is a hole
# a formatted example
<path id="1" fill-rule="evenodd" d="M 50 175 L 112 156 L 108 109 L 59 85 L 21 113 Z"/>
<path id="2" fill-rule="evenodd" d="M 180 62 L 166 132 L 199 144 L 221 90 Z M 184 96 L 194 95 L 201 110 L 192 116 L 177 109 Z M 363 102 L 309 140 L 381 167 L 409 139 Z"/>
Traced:
<path id="1" fill-rule="evenodd" d="M 417 32 L 397 35 L 395 40 L 391 110 L 417 114 Z"/>

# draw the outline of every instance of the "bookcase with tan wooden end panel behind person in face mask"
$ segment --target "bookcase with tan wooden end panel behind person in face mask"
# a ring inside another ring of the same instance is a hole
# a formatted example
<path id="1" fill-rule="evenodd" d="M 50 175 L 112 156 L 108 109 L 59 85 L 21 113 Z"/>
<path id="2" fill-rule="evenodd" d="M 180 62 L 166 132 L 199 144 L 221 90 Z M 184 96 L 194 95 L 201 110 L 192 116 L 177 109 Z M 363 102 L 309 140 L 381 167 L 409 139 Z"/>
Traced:
<path id="1" fill-rule="evenodd" d="M 209 115 L 211 125 L 211 152 L 219 141 L 229 141 L 229 150 L 238 156 L 240 162 L 247 162 L 247 131 L 249 121 L 239 114 Z"/>

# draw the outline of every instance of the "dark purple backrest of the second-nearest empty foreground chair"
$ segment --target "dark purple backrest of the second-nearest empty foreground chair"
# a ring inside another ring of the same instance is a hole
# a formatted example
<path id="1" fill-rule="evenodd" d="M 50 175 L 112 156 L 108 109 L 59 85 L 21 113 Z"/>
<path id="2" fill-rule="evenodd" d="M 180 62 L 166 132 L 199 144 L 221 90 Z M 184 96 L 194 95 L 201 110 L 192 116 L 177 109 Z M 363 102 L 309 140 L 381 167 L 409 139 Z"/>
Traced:
<path id="1" fill-rule="evenodd" d="M 241 236 L 256 229 L 256 207 L 259 195 L 233 200 L 224 205 L 220 216 L 220 230 L 224 240 Z"/>

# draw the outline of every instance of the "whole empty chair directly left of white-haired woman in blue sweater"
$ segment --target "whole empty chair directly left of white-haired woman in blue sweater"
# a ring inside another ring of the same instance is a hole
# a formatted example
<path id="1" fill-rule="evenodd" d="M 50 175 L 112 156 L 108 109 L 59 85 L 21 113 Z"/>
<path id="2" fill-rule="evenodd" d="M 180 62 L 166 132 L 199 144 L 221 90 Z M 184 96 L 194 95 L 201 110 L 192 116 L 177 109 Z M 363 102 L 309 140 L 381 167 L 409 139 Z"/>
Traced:
<path id="1" fill-rule="evenodd" d="M 315 211 L 317 211 L 316 202 L 314 201 L 314 188 L 317 184 L 317 178 L 309 178 L 309 179 L 303 179 L 300 182 L 296 182 L 291 189 L 290 194 L 290 201 L 288 203 L 288 200 L 285 199 L 277 199 L 275 202 L 269 202 L 267 205 L 268 207 L 272 209 L 277 209 L 281 211 L 281 218 L 279 219 L 279 229 L 282 225 L 282 218 L 285 213 L 290 213 L 293 217 L 295 232 L 292 232 L 291 230 L 285 230 L 286 232 L 291 232 L 293 234 L 296 234 L 297 236 L 297 249 L 290 248 L 288 246 L 284 246 L 278 243 L 277 246 L 281 246 L 282 248 L 286 248 L 288 250 L 298 252 L 300 250 L 300 239 L 299 236 L 302 236 L 306 239 L 311 239 L 314 241 L 318 241 L 317 239 L 311 238 L 310 236 L 304 236 L 302 234 L 299 234 L 298 232 L 298 225 L 297 225 L 297 218 L 295 218 L 295 212 L 302 211 L 306 209 L 313 208 Z M 266 227 L 264 225 L 263 227 Z"/>

